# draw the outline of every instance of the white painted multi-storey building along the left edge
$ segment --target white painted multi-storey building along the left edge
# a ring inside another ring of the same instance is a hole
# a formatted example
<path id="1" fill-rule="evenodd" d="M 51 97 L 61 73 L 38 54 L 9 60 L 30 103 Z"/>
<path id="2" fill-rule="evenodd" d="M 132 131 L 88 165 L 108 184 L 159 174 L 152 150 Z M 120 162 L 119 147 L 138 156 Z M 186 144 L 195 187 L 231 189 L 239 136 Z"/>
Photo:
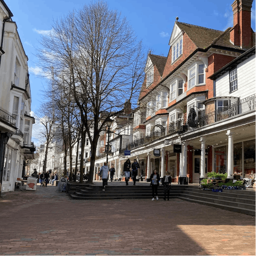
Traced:
<path id="1" fill-rule="evenodd" d="M 13 191 L 17 178 L 25 177 L 27 159 L 34 157 L 31 142 L 34 117 L 30 116 L 31 93 L 28 57 L 12 13 L 0 0 L 0 181 L 2 192 Z"/>

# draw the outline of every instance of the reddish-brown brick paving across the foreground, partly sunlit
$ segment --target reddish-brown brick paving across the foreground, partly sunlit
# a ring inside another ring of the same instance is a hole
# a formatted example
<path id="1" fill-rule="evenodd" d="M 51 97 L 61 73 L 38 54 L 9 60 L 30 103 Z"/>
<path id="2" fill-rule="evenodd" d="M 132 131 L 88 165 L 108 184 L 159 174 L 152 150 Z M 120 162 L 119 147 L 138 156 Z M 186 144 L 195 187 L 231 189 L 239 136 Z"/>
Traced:
<path id="1" fill-rule="evenodd" d="M 0 256 L 255 252 L 255 217 L 180 199 L 73 201 L 56 188 L 0 197 Z"/>

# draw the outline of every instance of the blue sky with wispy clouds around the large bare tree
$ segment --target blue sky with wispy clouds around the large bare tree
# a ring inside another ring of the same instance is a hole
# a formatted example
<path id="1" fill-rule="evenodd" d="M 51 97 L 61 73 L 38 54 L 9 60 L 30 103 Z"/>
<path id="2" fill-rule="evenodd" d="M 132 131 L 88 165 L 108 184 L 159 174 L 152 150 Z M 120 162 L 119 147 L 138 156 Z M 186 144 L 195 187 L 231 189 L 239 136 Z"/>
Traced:
<path id="1" fill-rule="evenodd" d="M 13 13 L 21 42 L 28 56 L 31 87 L 31 110 L 39 109 L 46 81 L 38 76 L 36 49 L 40 47 L 42 35 L 49 33 L 53 20 L 79 10 L 91 0 L 4 0 Z M 145 49 L 156 55 L 167 57 L 169 40 L 175 18 L 180 22 L 197 26 L 225 30 L 233 27 L 233 0 L 107 0 L 112 10 L 122 13 L 130 21 L 138 39 Z M 252 29 L 255 31 L 255 3 L 252 6 Z M 34 125 L 34 136 L 37 130 Z"/>

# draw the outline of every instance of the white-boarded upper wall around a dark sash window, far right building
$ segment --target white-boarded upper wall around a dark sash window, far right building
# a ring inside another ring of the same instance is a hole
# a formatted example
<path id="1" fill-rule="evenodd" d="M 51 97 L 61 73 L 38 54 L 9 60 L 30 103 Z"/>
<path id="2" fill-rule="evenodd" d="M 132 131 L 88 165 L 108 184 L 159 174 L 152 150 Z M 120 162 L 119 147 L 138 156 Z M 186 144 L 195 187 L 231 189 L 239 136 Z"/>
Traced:
<path id="1" fill-rule="evenodd" d="M 237 88 L 229 93 L 229 72 L 216 79 L 217 97 L 239 97 L 244 99 L 256 92 L 255 85 L 256 59 L 255 54 L 237 65 Z"/>

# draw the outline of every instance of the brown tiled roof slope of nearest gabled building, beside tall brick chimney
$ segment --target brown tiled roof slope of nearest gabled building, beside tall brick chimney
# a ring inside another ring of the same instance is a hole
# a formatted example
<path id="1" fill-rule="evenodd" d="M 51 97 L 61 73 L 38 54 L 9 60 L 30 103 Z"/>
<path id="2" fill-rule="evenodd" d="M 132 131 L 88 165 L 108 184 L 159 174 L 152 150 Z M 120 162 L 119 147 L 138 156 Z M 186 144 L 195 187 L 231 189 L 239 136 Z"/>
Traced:
<path id="1" fill-rule="evenodd" d="M 240 47 L 231 44 L 229 41 L 229 30 L 231 28 L 227 28 L 225 31 L 221 31 L 178 21 L 175 23 L 181 30 L 185 31 L 185 33 L 199 49 L 206 49 L 210 45 L 219 45 L 241 50 Z"/>

